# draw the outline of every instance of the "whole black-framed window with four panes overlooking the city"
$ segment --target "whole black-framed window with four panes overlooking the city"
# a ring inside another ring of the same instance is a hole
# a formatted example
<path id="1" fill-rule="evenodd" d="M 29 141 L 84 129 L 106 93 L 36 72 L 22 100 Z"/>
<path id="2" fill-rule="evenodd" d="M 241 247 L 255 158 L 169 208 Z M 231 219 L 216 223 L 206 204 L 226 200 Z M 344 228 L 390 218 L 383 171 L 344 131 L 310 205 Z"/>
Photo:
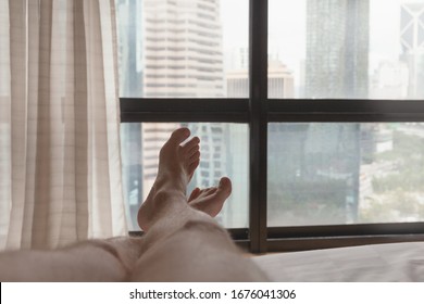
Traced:
<path id="1" fill-rule="evenodd" d="M 130 218 L 185 124 L 194 182 L 233 179 L 219 220 L 252 252 L 423 231 L 424 1 L 116 4 Z"/>

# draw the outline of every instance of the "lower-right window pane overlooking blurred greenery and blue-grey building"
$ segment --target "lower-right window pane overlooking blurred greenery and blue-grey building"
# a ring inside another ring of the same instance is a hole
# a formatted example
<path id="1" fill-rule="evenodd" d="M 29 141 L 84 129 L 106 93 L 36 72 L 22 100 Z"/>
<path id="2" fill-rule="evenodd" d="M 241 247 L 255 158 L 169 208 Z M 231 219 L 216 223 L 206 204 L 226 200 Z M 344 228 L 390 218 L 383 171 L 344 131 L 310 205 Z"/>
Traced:
<path id="1" fill-rule="evenodd" d="M 424 220 L 423 123 L 269 129 L 269 226 Z"/>

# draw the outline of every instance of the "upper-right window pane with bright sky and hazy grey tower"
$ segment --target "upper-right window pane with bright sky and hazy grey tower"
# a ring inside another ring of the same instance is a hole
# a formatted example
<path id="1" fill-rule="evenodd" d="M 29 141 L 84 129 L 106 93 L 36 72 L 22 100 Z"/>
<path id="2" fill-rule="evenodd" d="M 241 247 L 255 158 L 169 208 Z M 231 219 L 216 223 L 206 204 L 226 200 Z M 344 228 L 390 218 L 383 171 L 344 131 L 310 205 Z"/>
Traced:
<path id="1" fill-rule="evenodd" d="M 269 3 L 270 98 L 424 98 L 423 0 Z"/>

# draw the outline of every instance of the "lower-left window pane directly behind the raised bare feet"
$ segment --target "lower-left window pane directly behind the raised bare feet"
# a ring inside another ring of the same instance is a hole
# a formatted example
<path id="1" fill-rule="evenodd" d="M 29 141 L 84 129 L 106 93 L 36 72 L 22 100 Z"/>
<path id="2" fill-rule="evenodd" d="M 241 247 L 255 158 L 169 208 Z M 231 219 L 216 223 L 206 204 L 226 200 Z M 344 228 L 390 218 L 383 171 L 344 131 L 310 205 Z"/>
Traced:
<path id="1" fill-rule="evenodd" d="M 137 212 L 149 193 L 158 172 L 158 155 L 171 132 L 188 126 L 200 138 L 200 165 L 188 187 L 208 188 L 223 176 L 233 181 L 233 193 L 216 217 L 227 228 L 248 226 L 249 172 L 248 127 L 222 123 L 123 123 L 121 145 L 124 176 L 124 198 L 128 206 L 128 229 L 139 230 Z"/>

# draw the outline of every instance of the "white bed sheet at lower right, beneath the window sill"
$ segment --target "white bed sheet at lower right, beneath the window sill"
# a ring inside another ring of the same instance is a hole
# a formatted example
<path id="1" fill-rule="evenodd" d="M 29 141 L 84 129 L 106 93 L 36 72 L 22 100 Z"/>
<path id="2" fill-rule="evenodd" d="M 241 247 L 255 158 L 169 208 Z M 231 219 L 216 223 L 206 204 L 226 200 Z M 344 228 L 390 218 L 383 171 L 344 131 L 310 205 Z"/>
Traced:
<path id="1" fill-rule="evenodd" d="M 276 253 L 253 261 L 273 281 L 424 282 L 424 242 Z"/>

